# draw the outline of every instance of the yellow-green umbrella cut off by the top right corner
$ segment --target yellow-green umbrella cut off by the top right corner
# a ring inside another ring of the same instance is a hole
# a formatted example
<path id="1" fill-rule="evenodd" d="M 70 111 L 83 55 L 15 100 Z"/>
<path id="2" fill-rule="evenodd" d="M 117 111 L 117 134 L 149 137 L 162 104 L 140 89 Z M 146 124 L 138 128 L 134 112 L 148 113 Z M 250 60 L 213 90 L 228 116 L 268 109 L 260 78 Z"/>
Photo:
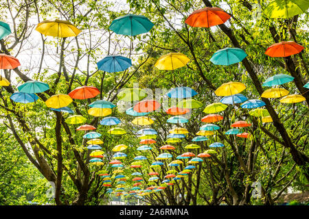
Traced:
<path id="1" fill-rule="evenodd" d="M 309 1 L 307 0 L 273 0 L 263 11 L 270 18 L 292 18 L 297 14 L 307 11 Z"/>

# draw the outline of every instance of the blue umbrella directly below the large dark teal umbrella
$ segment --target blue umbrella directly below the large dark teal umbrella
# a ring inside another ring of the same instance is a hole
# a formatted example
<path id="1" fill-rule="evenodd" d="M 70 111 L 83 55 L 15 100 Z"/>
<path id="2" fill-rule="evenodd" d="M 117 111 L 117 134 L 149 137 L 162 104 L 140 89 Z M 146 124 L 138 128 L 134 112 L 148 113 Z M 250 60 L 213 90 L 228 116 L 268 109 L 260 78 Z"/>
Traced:
<path id="1" fill-rule="evenodd" d="M 108 73 L 117 73 L 132 66 L 132 61 L 128 57 L 121 55 L 108 55 L 103 60 L 100 60 L 97 65 L 99 70 L 104 70 Z"/>

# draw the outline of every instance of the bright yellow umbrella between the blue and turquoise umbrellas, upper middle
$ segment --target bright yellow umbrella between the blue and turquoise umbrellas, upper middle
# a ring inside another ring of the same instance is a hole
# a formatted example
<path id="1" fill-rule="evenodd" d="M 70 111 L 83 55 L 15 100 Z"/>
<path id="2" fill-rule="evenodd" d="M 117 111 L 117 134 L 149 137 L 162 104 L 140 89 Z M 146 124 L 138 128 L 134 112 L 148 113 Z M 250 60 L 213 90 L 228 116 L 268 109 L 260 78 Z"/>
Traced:
<path id="1" fill-rule="evenodd" d="M 155 67 L 160 70 L 174 70 L 185 66 L 189 61 L 190 59 L 183 53 L 168 53 L 159 57 Z"/>

